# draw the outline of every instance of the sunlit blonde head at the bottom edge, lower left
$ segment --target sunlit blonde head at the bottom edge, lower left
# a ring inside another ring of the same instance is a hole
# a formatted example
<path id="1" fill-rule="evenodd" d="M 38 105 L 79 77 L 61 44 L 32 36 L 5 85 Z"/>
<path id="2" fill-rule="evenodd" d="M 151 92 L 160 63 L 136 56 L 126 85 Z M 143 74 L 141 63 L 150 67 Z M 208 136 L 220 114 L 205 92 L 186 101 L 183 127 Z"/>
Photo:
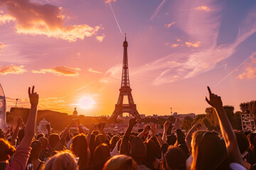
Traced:
<path id="1" fill-rule="evenodd" d="M 70 152 L 58 152 L 53 157 L 48 159 L 44 170 L 75 170 L 77 162 L 75 156 Z"/>

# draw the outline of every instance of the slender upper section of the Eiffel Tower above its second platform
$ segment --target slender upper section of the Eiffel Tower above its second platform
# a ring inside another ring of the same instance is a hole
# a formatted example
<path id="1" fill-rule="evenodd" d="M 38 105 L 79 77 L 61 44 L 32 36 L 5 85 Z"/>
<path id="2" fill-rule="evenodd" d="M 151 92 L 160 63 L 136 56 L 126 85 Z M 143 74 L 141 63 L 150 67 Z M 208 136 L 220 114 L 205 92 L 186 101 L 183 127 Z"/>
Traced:
<path id="1" fill-rule="evenodd" d="M 124 57 L 123 57 L 123 67 L 122 67 L 121 89 L 122 88 L 130 88 L 129 71 L 128 71 L 128 55 L 127 55 L 128 42 L 126 40 L 126 33 L 125 33 L 125 39 L 124 39 L 123 46 L 124 46 Z"/>

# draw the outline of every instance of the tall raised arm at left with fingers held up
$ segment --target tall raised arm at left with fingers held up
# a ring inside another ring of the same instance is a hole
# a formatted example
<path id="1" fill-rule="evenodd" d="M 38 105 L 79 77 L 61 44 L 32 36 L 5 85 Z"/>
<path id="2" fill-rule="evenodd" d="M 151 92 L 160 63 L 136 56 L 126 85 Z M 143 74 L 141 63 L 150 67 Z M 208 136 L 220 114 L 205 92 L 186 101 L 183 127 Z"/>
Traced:
<path id="1" fill-rule="evenodd" d="M 34 89 L 35 89 L 34 86 L 32 87 L 32 91 L 30 87 L 28 88 L 28 96 L 29 96 L 29 101 L 31 103 L 31 109 L 28 115 L 28 120 L 26 122 L 25 134 L 20 144 L 20 146 L 23 146 L 23 147 L 30 147 L 33 136 L 35 135 L 36 110 L 38 106 L 39 96 L 36 92 L 34 92 Z"/>

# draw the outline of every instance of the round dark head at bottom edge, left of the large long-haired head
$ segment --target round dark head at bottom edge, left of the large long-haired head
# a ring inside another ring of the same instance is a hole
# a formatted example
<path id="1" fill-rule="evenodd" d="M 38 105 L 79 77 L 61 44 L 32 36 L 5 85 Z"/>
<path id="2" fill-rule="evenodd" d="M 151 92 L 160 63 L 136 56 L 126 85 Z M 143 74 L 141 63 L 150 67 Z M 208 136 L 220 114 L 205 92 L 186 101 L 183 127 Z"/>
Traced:
<path id="1" fill-rule="evenodd" d="M 164 157 L 164 169 L 186 169 L 186 156 L 179 147 L 169 147 Z"/>

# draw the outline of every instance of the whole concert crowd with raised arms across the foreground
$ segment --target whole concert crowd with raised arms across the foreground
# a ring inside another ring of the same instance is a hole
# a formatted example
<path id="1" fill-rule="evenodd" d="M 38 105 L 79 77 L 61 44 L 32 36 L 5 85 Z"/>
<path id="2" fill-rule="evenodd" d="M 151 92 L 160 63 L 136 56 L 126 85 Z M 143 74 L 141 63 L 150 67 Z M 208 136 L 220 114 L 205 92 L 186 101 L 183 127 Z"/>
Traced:
<path id="1" fill-rule="evenodd" d="M 184 134 L 176 120 L 166 121 L 162 134 L 153 123 L 137 133 L 132 129 L 139 120 L 132 118 L 124 134 L 106 134 L 105 124 L 92 125 L 85 133 L 76 120 L 60 134 L 49 125 L 43 134 L 35 132 L 38 94 L 29 88 L 26 125 L 18 118 L 14 132 L 0 132 L 0 169 L 255 169 L 255 133 L 234 131 L 220 96 L 208 91 L 206 101 L 217 113 L 221 132 L 196 123 Z M 78 130 L 70 132 L 74 126 Z"/>

